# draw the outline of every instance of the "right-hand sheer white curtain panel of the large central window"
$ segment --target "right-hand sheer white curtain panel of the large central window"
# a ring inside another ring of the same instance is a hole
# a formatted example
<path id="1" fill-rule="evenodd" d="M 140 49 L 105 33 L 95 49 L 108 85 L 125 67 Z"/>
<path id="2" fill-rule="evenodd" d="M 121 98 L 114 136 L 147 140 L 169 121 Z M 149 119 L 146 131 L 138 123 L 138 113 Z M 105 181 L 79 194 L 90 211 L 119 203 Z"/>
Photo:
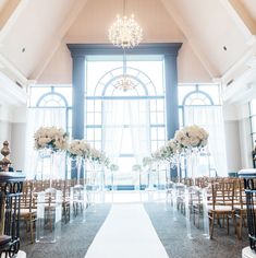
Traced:
<path id="1" fill-rule="evenodd" d="M 143 157 L 150 153 L 149 101 L 127 101 L 127 114 L 132 133 L 133 153 L 136 164 L 143 164 Z"/>

